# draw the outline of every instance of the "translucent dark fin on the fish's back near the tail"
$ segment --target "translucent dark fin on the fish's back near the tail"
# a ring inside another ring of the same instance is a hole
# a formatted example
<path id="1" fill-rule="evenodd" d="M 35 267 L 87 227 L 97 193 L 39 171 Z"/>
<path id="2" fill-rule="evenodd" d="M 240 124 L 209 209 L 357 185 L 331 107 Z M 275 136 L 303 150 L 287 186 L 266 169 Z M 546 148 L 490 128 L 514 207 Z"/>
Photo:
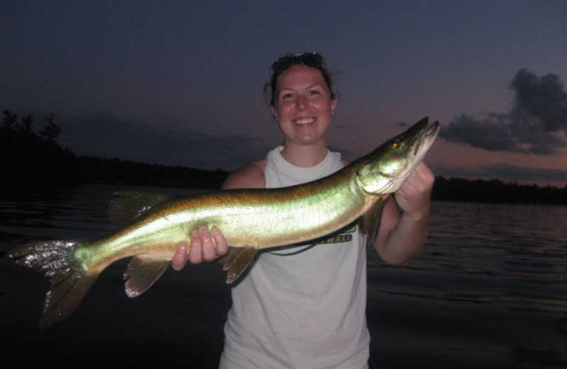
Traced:
<path id="1" fill-rule="evenodd" d="M 145 191 L 118 191 L 108 205 L 108 219 L 114 224 L 128 224 L 160 202 L 170 199 L 166 194 Z"/>

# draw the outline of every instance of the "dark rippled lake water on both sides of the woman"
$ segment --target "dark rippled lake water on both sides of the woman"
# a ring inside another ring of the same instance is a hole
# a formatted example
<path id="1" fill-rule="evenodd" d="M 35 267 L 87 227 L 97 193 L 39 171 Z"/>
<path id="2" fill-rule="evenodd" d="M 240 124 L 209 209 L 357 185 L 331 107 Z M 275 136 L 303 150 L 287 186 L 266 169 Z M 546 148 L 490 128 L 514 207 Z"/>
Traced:
<path id="1" fill-rule="evenodd" d="M 0 201 L 0 250 L 108 233 L 116 228 L 106 220 L 108 199 L 125 188 Z M 369 250 L 368 263 L 371 368 L 567 368 L 567 206 L 434 202 L 418 258 L 395 268 Z M 7 351 L 28 365 L 94 366 L 116 354 L 129 364 L 176 358 L 215 368 L 230 307 L 220 266 L 167 272 L 129 300 L 120 291 L 125 264 L 117 264 L 68 319 L 38 331 L 47 282 L 0 260 Z"/>

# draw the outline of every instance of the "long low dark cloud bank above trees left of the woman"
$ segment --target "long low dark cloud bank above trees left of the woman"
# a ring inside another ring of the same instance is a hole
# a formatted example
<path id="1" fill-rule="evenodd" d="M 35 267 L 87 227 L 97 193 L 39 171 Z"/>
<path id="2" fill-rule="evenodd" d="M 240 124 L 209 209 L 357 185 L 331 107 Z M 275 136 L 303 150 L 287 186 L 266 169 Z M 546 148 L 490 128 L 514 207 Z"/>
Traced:
<path id="1" fill-rule="evenodd" d="M 263 158 L 271 148 L 261 138 L 211 135 L 186 126 L 140 124 L 105 114 L 62 117 L 61 121 L 59 142 L 77 155 L 233 170 Z"/>

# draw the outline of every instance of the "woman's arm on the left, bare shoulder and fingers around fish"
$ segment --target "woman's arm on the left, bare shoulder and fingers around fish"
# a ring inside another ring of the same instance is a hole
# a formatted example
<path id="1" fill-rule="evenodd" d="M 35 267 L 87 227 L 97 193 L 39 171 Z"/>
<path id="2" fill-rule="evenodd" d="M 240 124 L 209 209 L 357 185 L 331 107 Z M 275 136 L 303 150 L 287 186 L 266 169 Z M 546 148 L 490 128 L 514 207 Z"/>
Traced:
<path id="1" fill-rule="evenodd" d="M 223 184 L 223 189 L 264 188 L 264 167 L 266 160 L 259 160 L 232 172 Z M 228 245 L 222 231 L 218 228 L 201 227 L 191 232 L 189 240 L 179 243 L 172 258 L 174 270 L 181 270 L 187 261 L 199 264 L 213 261 L 228 253 Z"/>

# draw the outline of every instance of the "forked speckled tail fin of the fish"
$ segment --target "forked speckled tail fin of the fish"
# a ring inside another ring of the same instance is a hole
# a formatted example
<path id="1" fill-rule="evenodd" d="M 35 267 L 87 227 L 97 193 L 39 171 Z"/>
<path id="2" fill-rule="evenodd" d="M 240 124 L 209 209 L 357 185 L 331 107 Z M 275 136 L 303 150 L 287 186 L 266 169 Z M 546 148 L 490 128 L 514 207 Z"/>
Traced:
<path id="1" fill-rule="evenodd" d="M 80 243 L 72 241 L 36 242 L 8 252 L 9 258 L 19 265 L 43 271 L 50 277 L 41 328 L 60 321 L 72 312 L 99 276 L 98 273 L 89 275 L 77 260 L 75 251 L 79 246 Z"/>

